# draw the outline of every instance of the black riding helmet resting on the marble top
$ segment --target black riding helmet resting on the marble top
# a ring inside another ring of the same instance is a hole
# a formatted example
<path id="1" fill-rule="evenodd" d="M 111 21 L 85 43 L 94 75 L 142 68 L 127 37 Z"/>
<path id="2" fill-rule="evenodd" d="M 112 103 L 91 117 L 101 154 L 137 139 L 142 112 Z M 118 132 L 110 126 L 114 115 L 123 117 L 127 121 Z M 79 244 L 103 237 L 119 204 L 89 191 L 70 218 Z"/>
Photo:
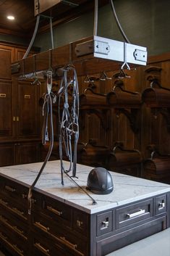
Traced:
<path id="1" fill-rule="evenodd" d="M 114 189 L 111 174 L 105 168 L 94 168 L 90 171 L 87 189 L 94 194 L 109 194 Z"/>

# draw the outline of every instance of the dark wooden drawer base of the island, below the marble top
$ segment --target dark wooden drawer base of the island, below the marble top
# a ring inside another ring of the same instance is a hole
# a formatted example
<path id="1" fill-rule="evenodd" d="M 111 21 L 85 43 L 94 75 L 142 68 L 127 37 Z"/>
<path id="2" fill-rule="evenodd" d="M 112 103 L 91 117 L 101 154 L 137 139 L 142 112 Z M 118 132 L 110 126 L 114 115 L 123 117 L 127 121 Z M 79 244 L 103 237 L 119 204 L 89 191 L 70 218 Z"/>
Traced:
<path id="1" fill-rule="evenodd" d="M 16 256 L 102 256 L 169 227 L 169 192 L 90 214 L 0 175 L 0 244 Z M 31 235 L 30 235 L 31 234 Z"/>

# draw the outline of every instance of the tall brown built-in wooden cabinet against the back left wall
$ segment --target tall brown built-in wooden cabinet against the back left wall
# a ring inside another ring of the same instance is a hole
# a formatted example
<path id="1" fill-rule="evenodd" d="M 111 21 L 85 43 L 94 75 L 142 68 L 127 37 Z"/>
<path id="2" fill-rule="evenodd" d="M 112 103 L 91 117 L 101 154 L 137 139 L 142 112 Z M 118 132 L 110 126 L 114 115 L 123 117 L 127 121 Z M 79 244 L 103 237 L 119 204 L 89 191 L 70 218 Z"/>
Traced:
<path id="1" fill-rule="evenodd" d="M 39 157 L 41 87 L 11 75 L 11 63 L 25 51 L 0 44 L 0 166 L 37 162 Z"/>

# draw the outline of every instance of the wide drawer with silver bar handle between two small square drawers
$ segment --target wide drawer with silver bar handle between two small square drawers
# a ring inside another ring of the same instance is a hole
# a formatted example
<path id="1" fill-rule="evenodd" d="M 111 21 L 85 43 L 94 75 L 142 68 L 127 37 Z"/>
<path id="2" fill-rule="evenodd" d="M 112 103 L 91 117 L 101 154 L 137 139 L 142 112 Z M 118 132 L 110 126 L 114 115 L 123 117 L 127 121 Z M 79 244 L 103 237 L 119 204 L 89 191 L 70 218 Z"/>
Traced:
<path id="1" fill-rule="evenodd" d="M 116 228 L 122 228 L 153 216 L 153 199 L 116 210 Z"/>

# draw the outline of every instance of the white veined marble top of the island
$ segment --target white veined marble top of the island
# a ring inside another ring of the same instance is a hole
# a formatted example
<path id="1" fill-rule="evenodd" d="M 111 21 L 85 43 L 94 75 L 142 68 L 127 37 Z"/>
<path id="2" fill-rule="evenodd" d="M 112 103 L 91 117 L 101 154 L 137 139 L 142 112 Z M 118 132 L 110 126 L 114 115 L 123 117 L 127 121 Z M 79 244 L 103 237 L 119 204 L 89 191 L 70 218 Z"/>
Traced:
<path id="1" fill-rule="evenodd" d="M 0 173 L 31 185 L 38 175 L 41 165 L 42 162 L 7 166 L 0 168 Z M 69 163 L 64 162 L 64 165 L 68 168 Z M 91 167 L 85 165 L 77 165 L 78 178 L 75 178 L 75 181 L 83 189 L 86 187 L 88 173 L 91 169 Z M 60 161 L 47 163 L 35 188 L 46 191 L 46 193 L 53 195 L 53 197 L 56 197 L 61 202 L 65 202 L 67 205 L 72 205 L 90 214 L 170 191 L 170 186 L 164 183 L 114 172 L 111 172 L 111 176 L 114 181 L 114 191 L 111 194 L 98 195 L 88 191 L 90 196 L 97 202 L 96 205 L 92 205 L 92 199 L 66 175 L 64 175 L 64 186 L 61 185 Z"/>

